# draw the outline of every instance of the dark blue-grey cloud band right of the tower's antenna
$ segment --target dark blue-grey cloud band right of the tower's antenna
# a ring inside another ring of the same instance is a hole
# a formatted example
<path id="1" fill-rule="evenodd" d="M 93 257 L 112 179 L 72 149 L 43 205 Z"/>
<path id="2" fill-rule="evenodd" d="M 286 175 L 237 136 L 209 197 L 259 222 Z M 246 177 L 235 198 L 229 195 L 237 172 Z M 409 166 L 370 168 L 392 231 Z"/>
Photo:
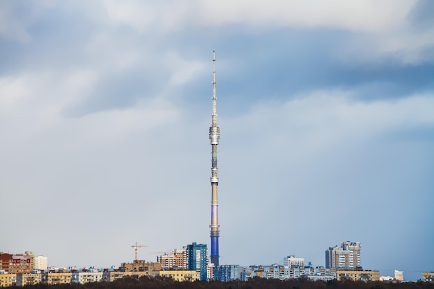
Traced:
<path id="1" fill-rule="evenodd" d="M 434 89 L 434 63 L 405 65 L 386 59 L 362 64 L 349 60 L 342 64 L 336 53 L 349 38 L 347 33 L 336 31 L 301 30 L 243 39 L 238 43 L 244 46 L 243 53 L 236 53 L 241 57 L 235 61 L 236 67 L 245 71 L 228 71 L 223 81 L 229 82 L 230 91 L 256 98 L 374 85 L 380 88 L 375 94 L 360 96 L 361 100 L 372 100 Z"/>

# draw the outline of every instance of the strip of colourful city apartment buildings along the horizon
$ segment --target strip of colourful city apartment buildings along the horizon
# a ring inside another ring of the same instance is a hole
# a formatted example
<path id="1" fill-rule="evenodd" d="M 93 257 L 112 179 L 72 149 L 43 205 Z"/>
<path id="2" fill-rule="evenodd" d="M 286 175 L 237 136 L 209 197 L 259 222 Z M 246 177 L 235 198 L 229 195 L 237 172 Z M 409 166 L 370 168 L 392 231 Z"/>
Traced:
<path id="1" fill-rule="evenodd" d="M 121 263 L 121 265 L 112 265 L 110 268 L 98 268 L 95 266 L 77 268 L 76 266 L 69 266 L 68 268 L 56 268 L 48 265 L 47 257 L 38 255 L 35 256 L 33 252 L 24 252 L 24 254 L 7 254 L 0 252 L 0 275 L 1 274 L 28 274 L 26 277 L 19 277 L 19 279 L 29 279 L 31 283 L 36 279 L 40 279 L 42 276 L 35 274 L 41 273 L 53 273 L 58 272 L 63 274 L 69 272 L 83 272 L 83 282 L 87 281 L 110 281 L 112 280 L 112 274 L 116 278 L 121 278 L 122 274 L 116 272 L 127 272 L 127 274 L 133 272 L 141 272 L 146 276 L 190 276 L 193 277 L 191 272 L 198 272 L 197 278 L 200 280 L 218 280 L 229 281 L 241 280 L 246 281 L 254 277 L 262 277 L 267 279 L 297 279 L 307 277 L 311 281 L 329 281 L 333 279 L 343 280 L 352 279 L 356 281 L 408 281 L 403 278 L 403 271 L 394 270 L 394 277 L 382 276 L 378 270 L 370 270 L 362 268 L 360 262 L 360 242 L 341 242 L 340 246 L 329 247 L 326 251 L 326 265 L 315 265 L 309 262 L 304 264 L 304 258 L 300 258 L 294 255 L 284 257 L 283 263 L 274 264 L 254 264 L 254 265 L 216 265 L 211 260 L 212 254 L 208 254 L 206 244 L 192 243 L 186 246 L 182 246 L 182 249 L 172 249 L 171 252 L 155 252 L 161 254 L 157 256 L 157 261 L 145 261 L 137 259 L 137 249 L 134 254 L 134 261 L 128 263 Z M 146 246 L 141 246 L 146 247 Z M 14 259 L 14 261 L 11 261 Z M 353 263 L 354 261 L 354 263 Z M 334 265 L 333 265 L 334 264 Z M 214 269 L 214 273 L 211 271 Z M 163 272 L 159 272 L 163 271 Z M 87 272 L 99 272 L 99 274 L 92 275 L 92 279 L 86 279 Z M 107 276 L 103 277 L 102 272 L 107 272 Z M 111 272 L 111 273 L 108 273 Z M 423 272 L 422 281 L 429 281 L 429 276 L 424 277 L 424 274 L 430 275 L 432 272 Z M 1 275 L 1 276 L 6 276 Z M 97 276 L 98 275 L 98 276 Z M 8 279 L 11 281 L 11 276 L 3 278 L 5 281 Z M 18 277 L 17 277 L 18 279 Z M 42 277 L 46 279 L 46 277 Z M 78 274 L 74 275 L 73 280 L 78 281 Z M 87 281 L 85 281 L 85 279 Z M 177 279 L 177 278 L 176 278 Z M 68 282 L 69 279 L 65 279 Z M 421 279 L 418 279 L 420 281 Z M 83 283 L 80 281 L 80 283 Z M 19 286 L 23 286 L 24 283 L 19 282 Z M 3 286 L 5 283 L 3 283 Z M 17 283 L 18 285 L 18 283 Z M 1 284 L 0 284 L 1 286 Z"/>

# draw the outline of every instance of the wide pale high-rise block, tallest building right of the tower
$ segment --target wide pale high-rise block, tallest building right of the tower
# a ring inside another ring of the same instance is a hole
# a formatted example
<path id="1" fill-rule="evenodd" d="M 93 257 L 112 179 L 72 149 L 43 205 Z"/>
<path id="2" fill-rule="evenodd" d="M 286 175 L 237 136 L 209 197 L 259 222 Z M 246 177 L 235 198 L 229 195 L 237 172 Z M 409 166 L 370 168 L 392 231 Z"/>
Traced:
<path id="1" fill-rule="evenodd" d="M 341 242 L 325 252 L 326 268 L 356 270 L 361 268 L 361 243 Z"/>

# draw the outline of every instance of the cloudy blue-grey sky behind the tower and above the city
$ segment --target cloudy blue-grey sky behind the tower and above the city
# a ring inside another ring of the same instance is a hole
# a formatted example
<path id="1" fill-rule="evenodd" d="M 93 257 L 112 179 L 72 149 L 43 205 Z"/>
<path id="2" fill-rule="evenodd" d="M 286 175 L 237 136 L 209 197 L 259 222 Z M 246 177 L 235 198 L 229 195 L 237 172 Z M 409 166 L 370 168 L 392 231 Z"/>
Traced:
<path id="1" fill-rule="evenodd" d="M 0 252 L 49 265 L 209 245 L 220 264 L 361 242 L 434 270 L 434 1 L 1 1 Z"/>

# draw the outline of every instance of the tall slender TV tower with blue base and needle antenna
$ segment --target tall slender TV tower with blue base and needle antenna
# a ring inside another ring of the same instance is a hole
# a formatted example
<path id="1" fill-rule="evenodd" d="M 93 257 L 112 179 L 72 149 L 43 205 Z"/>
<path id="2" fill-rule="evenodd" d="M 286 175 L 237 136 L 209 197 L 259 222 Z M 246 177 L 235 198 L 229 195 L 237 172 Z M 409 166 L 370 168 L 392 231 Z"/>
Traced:
<path id="1" fill-rule="evenodd" d="M 216 51 L 213 51 L 213 71 L 212 71 L 212 124 L 209 127 L 209 143 L 211 143 L 211 262 L 218 266 L 218 175 L 217 175 L 217 146 L 220 139 L 220 128 L 217 125 L 216 110 Z"/>

